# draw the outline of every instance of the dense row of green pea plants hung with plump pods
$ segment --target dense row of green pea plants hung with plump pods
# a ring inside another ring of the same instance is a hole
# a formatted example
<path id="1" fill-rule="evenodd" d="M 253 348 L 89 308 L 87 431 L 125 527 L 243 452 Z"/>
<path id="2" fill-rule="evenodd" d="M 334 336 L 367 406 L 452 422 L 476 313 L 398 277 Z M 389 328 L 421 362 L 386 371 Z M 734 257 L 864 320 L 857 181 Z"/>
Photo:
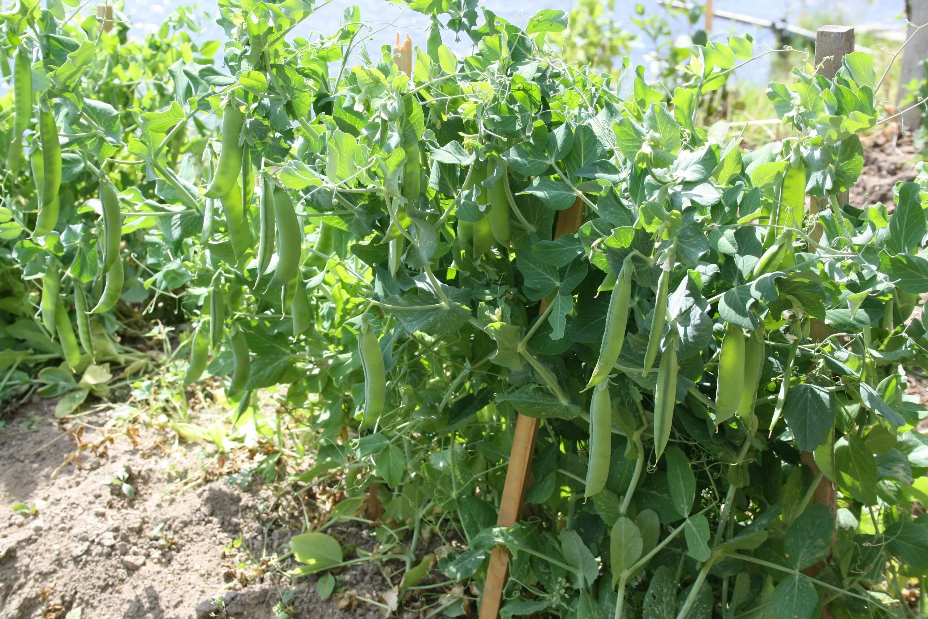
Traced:
<path id="1" fill-rule="evenodd" d="M 551 53 L 561 11 L 409 6 L 431 24 L 412 62 L 370 53 L 356 7 L 301 37 L 309 3 L 221 0 L 221 63 L 185 42 L 135 73 L 93 19 L 4 14 L 0 148 L 31 163 L 8 167 L 5 238 L 51 354 L 76 370 L 154 291 L 192 320 L 185 388 L 307 409 L 303 479 L 337 480 L 340 517 L 379 511 L 380 546 L 343 561 L 297 535 L 295 576 L 401 561 L 398 600 L 441 573 L 453 615 L 503 547 L 508 616 L 924 614 L 906 391 L 928 365 L 928 175 L 847 203 L 872 58 L 769 84 L 791 135 L 749 149 L 696 119 L 771 53 L 750 36 L 693 46 L 666 92 Z M 496 526 L 519 415 L 541 420 L 534 482 Z"/>

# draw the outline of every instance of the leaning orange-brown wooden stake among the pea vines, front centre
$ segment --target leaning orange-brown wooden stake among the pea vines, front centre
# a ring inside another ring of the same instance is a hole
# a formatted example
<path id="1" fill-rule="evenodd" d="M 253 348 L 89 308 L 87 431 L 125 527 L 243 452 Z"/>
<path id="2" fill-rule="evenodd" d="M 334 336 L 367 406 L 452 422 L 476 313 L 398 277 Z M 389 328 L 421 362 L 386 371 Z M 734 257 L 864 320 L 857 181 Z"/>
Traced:
<path id="1" fill-rule="evenodd" d="M 554 228 L 554 238 L 565 234 L 573 234 L 583 224 L 585 204 L 579 198 L 574 205 L 558 213 L 558 224 Z M 546 303 L 541 302 L 541 312 L 544 312 Z M 512 449 L 509 451 L 509 469 L 506 471 L 506 484 L 503 485 L 503 496 L 499 499 L 499 516 L 496 518 L 498 526 L 512 526 L 519 520 L 519 509 L 522 507 L 522 496 L 525 494 L 532 465 L 532 456 L 535 454 L 535 439 L 538 436 L 538 419 L 519 415 L 516 421 L 516 432 L 512 438 Z M 483 586 L 483 597 L 480 603 L 480 619 L 496 619 L 499 616 L 499 604 L 503 599 L 503 587 L 506 587 L 506 572 L 509 570 L 509 555 L 503 548 L 493 548 L 490 554 L 490 565 L 486 572 L 486 584 Z"/>

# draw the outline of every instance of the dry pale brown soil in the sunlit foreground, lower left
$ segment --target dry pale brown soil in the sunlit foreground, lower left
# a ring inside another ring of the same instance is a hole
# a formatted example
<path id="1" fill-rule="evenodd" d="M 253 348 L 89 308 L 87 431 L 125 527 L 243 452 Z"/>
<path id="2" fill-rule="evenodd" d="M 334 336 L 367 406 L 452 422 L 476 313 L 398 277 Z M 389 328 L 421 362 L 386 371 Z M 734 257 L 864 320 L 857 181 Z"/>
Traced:
<path id="1" fill-rule="evenodd" d="M 105 411 L 64 423 L 54 404 L 36 398 L 0 431 L 0 619 L 383 616 L 361 600 L 392 587 L 374 561 L 342 571 L 342 593 L 323 602 L 314 576 L 293 582 L 292 561 L 262 559 L 288 551 L 306 514 L 247 483 L 247 450 L 206 456 L 173 431 L 112 423 Z M 362 526 L 327 532 L 373 550 Z"/>

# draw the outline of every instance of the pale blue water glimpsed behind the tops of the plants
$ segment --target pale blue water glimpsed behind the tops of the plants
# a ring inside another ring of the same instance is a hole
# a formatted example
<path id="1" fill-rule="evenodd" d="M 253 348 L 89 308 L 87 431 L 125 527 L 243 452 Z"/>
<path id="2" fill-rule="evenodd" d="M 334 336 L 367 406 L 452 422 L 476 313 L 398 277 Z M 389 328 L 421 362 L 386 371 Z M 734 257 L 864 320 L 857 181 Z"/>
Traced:
<path id="1" fill-rule="evenodd" d="M 701 0 L 702 1 L 702 0 Z M 170 14 L 174 8 L 182 4 L 189 4 L 185 0 L 126 0 L 125 10 L 133 22 L 132 35 L 141 38 L 146 32 L 154 32 L 161 20 Z M 321 3 L 320 3 L 321 4 Z M 569 11 L 573 5 L 571 0 L 483 0 L 482 3 L 497 15 L 509 19 L 517 24 L 523 24 L 541 8 L 560 8 Z M 622 24 L 625 29 L 640 34 L 640 30 L 632 23 L 638 17 L 636 6 L 643 6 L 646 15 L 664 13 L 664 8 L 656 0 L 640 0 L 629 2 L 617 0 L 613 19 Z M 295 32 L 307 36 L 311 32 L 329 34 L 335 32 L 342 20 L 343 9 L 346 6 L 356 5 L 361 9 L 361 19 L 367 23 L 368 31 L 372 37 L 367 41 L 367 50 L 371 55 L 378 54 L 381 45 L 392 44 L 396 32 L 406 37 L 408 32 L 414 45 L 424 47 L 429 19 L 419 13 L 409 10 L 400 2 L 389 0 L 355 0 L 344 2 L 334 0 L 328 5 L 318 9 L 309 19 L 306 19 Z M 213 16 L 216 14 L 214 2 L 200 2 L 200 9 Z M 845 25 L 883 25 L 886 29 L 902 32 L 905 30 L 905 0 L 715 0 L 716 8 L 726 9 L 736 13 L 751 15 L 755 18 L 783 20 L 793 25 L 803 24 L 814 30 L 825 23 L 842 23 Z M 481 17 L 482 20 L 482 17 Z M 702 20 L 700 21 L 700 26 Z M 675 34 L 689 32 L 689 25 L 685 19 L 673 22 Z M 757 40 L 757 45 L 776 45 L 775 38 L 768 29 L 751 26 L 744 23 L 715 18 L 713 33 L 715 38 L 725 33 L 750 32 Z M 215 23 L 211 23 L 204 32 L 197 37 L 205 41 L 209 39 L 222 39 L 224 33 Z M 448 36 L 445 34 L 445 38 Z M 466 53 L 470 49 L 470 41 L 453 42 L 445 40 L 458 53 Z M 638 41 L 632 53 L 632 65 L 645 63 L 645 53 L 648 51 L 647 43 Z M 896 44 L 897 45 L 897 44 Z M 354 58 L 357 52 L 354 52 Z M 754 65 L 751 71 L 741 71 L 740 79 L 755 82 L 766 81 L 767 70 L 765 66 Z"/>

